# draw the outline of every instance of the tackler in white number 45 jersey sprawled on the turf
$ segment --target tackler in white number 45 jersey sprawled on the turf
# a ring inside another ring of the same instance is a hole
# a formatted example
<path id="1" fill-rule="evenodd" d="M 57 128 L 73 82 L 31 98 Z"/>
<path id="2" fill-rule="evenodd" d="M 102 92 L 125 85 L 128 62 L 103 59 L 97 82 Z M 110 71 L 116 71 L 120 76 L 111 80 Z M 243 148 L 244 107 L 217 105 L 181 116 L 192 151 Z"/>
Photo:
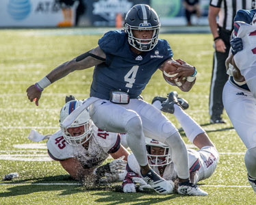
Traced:
<path id="1" fill-rule="evenodd" d="M 60 111 L 60 123 L 81 103 L 81 100 L 66 102 Z M 40 141 L 36 140 L 37 136 L 36 131 L 31 131 L 29 139 Z M 61 126 L 60 131 L 51 135 L 47 141 L 47 148 L 49 156 L 55 161 L 60 161 L 62 167 L 76 180 L 84 180 L 85 176 L 90 176 L 91 180 L 105 176 L 106 173 L 108 176 L 118 174 L 122 171 L 120 169 L 125 170 L 126 165 L 126 161 L 118 158 L 124 156 L 127 160 L 129 154 L 120 145 L 120 134 L 97 128 L 90 120 L 87 110 L 79 115 L 71 128 L 64 130 Z M 101 169 L 96 169 L 110 155 L 116 160 L 101 166 Z"/>

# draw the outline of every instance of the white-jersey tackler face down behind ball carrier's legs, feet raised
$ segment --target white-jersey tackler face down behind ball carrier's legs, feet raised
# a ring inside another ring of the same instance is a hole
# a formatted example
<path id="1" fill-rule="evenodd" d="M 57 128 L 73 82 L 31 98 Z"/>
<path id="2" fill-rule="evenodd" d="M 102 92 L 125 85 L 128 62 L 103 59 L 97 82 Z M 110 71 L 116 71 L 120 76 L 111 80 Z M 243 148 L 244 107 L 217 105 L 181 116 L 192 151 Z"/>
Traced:
<path id="1" fill-rule="evenodd" d="M 188 149 L 188 162 L 190 167 L 190 180 L 194 184 L 199 180 L 209 178 L 214 173 L 219 160 L 219 154 L 214 144 L 209 139 L 203 128 L 199 126 L 189 115 L 187 115 L 182 109 L 182 101 L 174 101 L 173 96 L 176 92 L 171 92 L 168 97 L 168 104 L 166 98 L 156 97 L 153 99 L 153 105 L 161 105 L 161 102 L 166 100 L 162 106 L 165 110 L 173 110 L 173 114 L 179 120 L 185 134 L 188 139 L 196 145 L 199 150 Z M 181 98 L 182 99 L 182 98 Z M 165 104 L 165 105 L 164 105 Z M 179 107 L 179 105 L 181 107 Z M 160 107 L 159 107 L 160 108 Z M 149 164 L 159 176 L 162 176 L 165 180 L 173 181 L 177 180 L 177 171 L 175 165 L 172 163 L 171 150 L 164 143 L 156 141 L 154 139 L 146 138 L 146 149 Z M 140 167 L 133 154 L 130 154 L 127 159 L 127 176 L 123 181 L 124 192 L 136 192 L 136 183 L 140 187 L 146 186 L 142 180 L 140 180 Z"/>

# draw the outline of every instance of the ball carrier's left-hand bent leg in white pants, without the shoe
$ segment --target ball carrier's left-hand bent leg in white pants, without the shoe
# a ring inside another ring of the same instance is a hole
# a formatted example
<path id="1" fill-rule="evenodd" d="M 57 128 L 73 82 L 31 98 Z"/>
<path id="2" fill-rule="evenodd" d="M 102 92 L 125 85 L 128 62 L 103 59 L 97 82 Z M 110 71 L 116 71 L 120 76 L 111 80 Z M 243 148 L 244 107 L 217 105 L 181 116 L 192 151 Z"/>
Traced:
<path id="1" fill-rule="evenodd" d="M 148 165 L 142 122 L 135 111 L 108 100 L 99 100 L 90 108 L 90 116 L 94 124 L 105 131 L 127 133 L 127 144 L 138 163 L 140 166 Z"/>

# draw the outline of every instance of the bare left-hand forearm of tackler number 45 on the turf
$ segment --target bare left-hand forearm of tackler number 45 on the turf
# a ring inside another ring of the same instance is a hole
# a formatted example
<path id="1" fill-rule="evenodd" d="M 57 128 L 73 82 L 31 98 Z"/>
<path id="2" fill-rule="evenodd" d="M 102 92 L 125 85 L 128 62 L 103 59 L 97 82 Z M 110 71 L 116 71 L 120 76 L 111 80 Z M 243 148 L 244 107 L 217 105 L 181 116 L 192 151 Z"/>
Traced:
<path id="1" fill-rule="evenodd" d="M 60 161 L 60 164 L 75 180 L 81 180 L 84 176 L 92 175 L 93 172 L 93 169 L 84 169 L 76 158 L 64 159 Z"/>

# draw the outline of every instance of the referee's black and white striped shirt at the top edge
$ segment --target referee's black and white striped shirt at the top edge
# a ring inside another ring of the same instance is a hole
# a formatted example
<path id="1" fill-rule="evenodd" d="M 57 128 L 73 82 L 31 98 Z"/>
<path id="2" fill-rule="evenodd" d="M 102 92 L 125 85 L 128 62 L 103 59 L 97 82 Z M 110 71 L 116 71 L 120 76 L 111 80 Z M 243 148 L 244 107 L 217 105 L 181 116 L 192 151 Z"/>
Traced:
<path id="1" fill-rule="evenodd" d="M 236 12 L 256 8 L 256 0 L 210 0 L 209 5 L 220 8 L 218 25 L 231 31 Z"/>

